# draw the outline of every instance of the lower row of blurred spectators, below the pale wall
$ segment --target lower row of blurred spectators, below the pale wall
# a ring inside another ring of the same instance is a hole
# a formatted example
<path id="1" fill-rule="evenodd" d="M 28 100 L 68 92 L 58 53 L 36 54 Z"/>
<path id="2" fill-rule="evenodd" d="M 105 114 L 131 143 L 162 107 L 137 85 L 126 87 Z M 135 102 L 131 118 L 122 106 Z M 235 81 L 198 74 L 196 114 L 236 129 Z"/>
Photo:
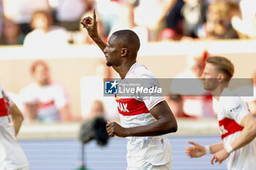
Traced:
<path id="1" fill-rule="evenodd" d="M 187 70 L 171 81 L 169 95 L 165 96 L 165 100 L 178 119 L 217 117 L 211 93 L 203 89 L 200 81 L 204 69 L 203 63 L 208 56 L 206 51 L 187 56 L 189 65 Z M 50 68 L 45 61 L 31 63 L 30 72 L 33 82 L 21 88 L 18 94 L 9 93 L 23 112 L 26 123 L 91 120 L 93 117 L 103 117 L 105 120 L 119 119 L 114 98 L 102 95 L 104 81 L 115 77 L 113 69 L 106 66 L 104 60 L 96 61 L 94 76 L 80 79 L 81 112 L 77 115 L 71 112 L 68 91 L 59 82 L 50 79 Z M 254 96 L 244 97 L 244 100 L 252 115 L 256 116 L 256 72 L 253 79 Z"/>

